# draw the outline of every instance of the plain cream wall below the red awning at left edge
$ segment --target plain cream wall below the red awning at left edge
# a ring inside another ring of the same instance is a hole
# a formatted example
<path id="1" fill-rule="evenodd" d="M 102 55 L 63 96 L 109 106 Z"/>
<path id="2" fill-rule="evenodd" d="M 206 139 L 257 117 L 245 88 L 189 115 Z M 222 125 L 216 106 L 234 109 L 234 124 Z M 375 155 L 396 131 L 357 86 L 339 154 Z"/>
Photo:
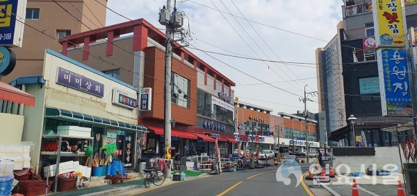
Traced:
<path id="1" fill-rule="evenodd" d="M 10 144 L 22 141 L 24 116 L 0 113 L 0 143 Z"/>

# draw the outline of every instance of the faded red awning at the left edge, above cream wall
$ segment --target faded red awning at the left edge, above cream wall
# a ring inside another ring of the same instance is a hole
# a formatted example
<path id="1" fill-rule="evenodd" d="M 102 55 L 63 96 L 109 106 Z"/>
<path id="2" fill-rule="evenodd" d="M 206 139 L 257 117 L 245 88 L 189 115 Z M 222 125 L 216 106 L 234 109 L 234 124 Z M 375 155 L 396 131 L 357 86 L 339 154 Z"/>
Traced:
<path id="1" fill-rule="evenodd" d="M 10 100 L 31 107 L 35 106 L 35 96 L 0 81 L 0 99 Z"/>

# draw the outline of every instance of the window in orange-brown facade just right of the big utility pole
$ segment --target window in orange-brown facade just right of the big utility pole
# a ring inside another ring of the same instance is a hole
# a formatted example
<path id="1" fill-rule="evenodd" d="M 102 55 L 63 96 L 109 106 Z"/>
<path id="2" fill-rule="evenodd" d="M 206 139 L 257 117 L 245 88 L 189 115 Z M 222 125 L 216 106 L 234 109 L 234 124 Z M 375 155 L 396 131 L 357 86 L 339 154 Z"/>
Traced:
<path id="1" fill-rule="evenodd" d="M 171 72 L 171 103 L 181 107 L 190 107 L 190 80 L 183 78 L 177 73 Z"/>

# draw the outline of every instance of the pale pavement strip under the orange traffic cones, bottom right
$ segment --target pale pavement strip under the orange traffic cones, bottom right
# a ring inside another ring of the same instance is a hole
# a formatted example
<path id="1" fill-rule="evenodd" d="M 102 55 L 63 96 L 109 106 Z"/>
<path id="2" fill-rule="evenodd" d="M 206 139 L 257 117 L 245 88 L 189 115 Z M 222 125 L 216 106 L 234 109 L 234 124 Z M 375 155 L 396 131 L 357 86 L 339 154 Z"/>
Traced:
<path id="1" fill-rule="evenodd" d="M 306 186 L 314 195 L 320 196 L 351 196 L 352 181 L 356 179 L 359 195 L 361 196 L 396 196 L 398 180 L 403 183 L 402 175 L 391 176 L 367 176 L 363 177 L 336 177 L 329 183 L 315 183 L 312 180 L 304 180 Z M 402 184 L 404 187 L 404 184 Z"/>

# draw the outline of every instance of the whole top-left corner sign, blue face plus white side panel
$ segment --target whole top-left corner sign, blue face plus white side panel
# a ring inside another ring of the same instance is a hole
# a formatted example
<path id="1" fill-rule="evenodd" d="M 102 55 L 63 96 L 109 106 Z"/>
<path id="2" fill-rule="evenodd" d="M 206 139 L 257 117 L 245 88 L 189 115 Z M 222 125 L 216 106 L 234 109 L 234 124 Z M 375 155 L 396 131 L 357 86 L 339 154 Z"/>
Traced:
<path id="1" fill-rule="evenodd" d="M 0 1 L 0 46 L 22 47 L 27 0 Z"/>

